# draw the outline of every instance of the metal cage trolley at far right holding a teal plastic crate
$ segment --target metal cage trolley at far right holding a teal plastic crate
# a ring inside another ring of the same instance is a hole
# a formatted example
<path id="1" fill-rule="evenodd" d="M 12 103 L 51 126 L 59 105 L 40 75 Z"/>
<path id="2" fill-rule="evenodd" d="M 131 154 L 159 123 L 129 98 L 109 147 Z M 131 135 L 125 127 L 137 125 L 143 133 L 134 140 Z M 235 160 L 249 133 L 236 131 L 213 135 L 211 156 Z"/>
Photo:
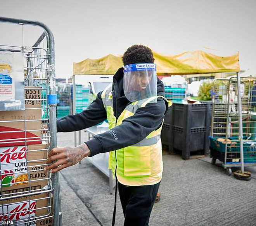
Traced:
<path id="1" fill-rule="evenodd" d="M 228 175 L 232 167 L 256 166 L 256 78 L 214 79 L 210 151 Z"/>

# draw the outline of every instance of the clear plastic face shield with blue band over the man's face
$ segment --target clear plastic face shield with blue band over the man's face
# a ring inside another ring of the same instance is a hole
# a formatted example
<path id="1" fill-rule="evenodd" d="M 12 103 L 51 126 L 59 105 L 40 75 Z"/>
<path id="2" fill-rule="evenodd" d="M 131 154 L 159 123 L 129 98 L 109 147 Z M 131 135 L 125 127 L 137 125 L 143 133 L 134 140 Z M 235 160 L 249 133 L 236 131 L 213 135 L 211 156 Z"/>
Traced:
<path id="1" fill-rule="evenodd" d="M 131 102 L 143 100 L 157 95 L 156 65 L 138 63 L 126 65 L 124 68 L 124 92 Z M 156 102 L 157 99 L 151 102 Z"/>

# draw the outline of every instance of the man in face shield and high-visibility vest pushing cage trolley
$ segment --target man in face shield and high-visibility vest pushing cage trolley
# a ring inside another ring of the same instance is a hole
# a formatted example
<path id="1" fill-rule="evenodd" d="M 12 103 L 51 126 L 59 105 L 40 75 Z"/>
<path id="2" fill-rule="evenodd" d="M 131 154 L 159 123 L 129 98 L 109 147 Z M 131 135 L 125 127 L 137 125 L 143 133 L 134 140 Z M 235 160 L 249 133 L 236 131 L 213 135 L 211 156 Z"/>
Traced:
<path id="1" fill-rule="evenodd" d="M 149 48 L 131 46 L 123 64 L 113 83 L 87 109 L 57 120 L 57 132 L 78 131 L 105 119 L 109 130 L 78 147 L 52 149 L 47 163 L 58 161 L 46 170 L 54 173 L 86 156 L 111 151 L 109 168 L 118 181 L 124 225 L 147 226 L 163 172 L 160 133 L 170 102 L 164 98 L 164 85 L 156 76 Z"/>

